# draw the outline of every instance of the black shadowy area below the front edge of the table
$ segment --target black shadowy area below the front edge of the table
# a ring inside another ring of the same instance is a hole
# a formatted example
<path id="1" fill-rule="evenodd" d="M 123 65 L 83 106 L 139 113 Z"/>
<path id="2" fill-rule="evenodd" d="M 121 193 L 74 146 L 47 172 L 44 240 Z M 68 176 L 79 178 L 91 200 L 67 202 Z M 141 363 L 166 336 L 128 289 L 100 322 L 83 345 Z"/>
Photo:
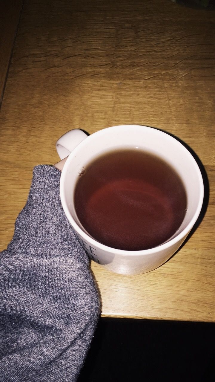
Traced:
<path id="1" fill-rule="evenodd" d="M 215 324 L 102 318 L 78 382 L 215 381 Z"/>

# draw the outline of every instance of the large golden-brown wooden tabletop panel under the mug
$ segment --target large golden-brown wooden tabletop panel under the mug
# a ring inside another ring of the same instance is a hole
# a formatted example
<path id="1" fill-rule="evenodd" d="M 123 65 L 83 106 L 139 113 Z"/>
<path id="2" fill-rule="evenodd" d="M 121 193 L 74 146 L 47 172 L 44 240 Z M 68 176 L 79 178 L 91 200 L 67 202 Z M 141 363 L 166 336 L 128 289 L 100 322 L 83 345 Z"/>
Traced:
<path id="1" fill-rule="evenodd" d="M 204 219 L 167 263 L 132 277 L 91 264 L 103 316 L 215 321 L 214 25 L 214 11 L 169 0 L 24 2 L 0 112 L 1 249 L 33 166 L 58 161 L 71 128 L 165 129 L 209 178 Z"/>

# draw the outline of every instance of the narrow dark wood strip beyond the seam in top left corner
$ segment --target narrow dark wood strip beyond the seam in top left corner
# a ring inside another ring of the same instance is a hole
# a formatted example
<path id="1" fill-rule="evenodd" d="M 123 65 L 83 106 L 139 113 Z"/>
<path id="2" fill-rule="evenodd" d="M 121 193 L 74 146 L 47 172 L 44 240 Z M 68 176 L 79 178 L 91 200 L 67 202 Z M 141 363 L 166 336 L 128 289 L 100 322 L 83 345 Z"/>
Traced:
<path id="1" fill-rule="evenodd" d="M 0 0 L 0 106 L 23 0 Z"/>

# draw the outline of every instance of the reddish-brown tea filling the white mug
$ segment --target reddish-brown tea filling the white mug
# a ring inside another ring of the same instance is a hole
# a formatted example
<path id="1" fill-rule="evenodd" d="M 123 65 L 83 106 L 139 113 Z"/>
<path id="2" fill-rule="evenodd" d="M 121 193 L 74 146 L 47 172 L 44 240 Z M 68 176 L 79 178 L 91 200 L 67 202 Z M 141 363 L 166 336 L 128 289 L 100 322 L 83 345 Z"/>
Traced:
<path id="1" fill-rule="evenodd" d="M 164 160 L 141 149 L 109 151 L 78 178 L 74 205 L 95 240 L 128 251 L 153 248 L 181 225 L 184 185 Z"/>

